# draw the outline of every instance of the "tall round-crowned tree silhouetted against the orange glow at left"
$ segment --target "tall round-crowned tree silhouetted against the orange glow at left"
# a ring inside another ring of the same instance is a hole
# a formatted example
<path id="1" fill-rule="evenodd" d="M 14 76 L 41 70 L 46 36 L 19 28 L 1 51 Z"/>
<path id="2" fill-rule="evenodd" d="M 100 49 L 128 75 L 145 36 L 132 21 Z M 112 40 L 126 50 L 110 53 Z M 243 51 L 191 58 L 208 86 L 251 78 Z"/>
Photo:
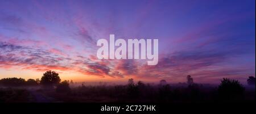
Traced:
<path id="1" fill-rule="evenodd" d="M 46 71 L 46 73 L 43 74 L 43 77 L 41 78 L 40 84 L 44 87 L 52 88 L 53 86 L 56 86 L 61 81 L 59 74 L 55 71 Z"/>

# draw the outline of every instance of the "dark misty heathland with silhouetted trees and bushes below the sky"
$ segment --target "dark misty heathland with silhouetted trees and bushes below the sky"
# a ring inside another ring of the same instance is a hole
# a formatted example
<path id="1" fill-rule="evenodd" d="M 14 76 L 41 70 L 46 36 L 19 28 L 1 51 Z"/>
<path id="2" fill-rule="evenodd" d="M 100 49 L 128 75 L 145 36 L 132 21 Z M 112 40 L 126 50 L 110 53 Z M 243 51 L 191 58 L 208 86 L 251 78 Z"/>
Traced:
<path id="1" fill-rule="evenodd" d="M 247 86 L 228 78 L 218 86 L 195 83 L 191 75 L 184 78 L 187 82 L 178 84 L 164 79 L 158 84 L 135 83 L 131 78 L 126 85 L 85 86 L 61 82 L 58 73 L 47 71 L 41 79 L 0 79 L 0 102 L 255 102 L 255 77 L 247 79 Z"/>

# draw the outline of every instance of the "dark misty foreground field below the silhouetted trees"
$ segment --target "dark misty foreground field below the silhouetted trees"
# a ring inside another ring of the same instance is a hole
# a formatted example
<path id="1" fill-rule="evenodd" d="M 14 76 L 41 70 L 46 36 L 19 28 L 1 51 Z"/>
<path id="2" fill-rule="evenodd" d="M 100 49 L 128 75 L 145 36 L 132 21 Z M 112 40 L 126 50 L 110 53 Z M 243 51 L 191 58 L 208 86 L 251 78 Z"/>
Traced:
<path id="1" fill-rule="evenodd" d="M 226 89 L 226 88 L 224 88 Z M 221 103 L 255 102 L 255 86 L 221 90 L 208 85 L 98 85 L 56 90 L 41 86 L 1 87 L 4 103 Z"/>

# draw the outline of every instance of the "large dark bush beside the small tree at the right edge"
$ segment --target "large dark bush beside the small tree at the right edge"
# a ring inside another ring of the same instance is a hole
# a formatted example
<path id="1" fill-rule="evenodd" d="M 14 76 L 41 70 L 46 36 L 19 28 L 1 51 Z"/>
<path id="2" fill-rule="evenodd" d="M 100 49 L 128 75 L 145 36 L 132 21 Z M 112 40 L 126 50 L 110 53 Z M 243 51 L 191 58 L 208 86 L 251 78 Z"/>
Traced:
<path id="1" fill-rule="evenodd" d="M 223 78 L 218 86 L 218 94 L 221 100 L 241 100 L 245 88 L 237 80 Z"/>

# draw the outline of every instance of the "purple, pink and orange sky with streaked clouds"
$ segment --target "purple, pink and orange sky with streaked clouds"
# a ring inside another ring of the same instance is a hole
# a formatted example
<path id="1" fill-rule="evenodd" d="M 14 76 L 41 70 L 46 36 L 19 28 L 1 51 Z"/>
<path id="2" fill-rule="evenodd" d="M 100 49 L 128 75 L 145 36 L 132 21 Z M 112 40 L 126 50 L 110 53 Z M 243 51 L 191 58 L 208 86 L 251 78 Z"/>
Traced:
<path id="1" fill-rule="evenodd" d="M 159 61 L 98 60 L 98 39 L 159 39 Z M 0 0 L 0 78 L 246 83 L 255 77 L 255 1 Z"/>

